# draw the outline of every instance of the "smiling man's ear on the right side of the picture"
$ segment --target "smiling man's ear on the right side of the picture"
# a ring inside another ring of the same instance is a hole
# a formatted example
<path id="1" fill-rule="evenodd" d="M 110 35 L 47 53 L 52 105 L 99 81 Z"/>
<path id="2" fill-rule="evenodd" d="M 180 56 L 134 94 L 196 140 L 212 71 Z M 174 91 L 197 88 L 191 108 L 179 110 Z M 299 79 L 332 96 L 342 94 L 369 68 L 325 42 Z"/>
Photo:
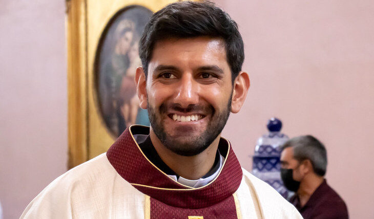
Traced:
<path id="1" fill-rule="evenodd" d="M 231 112 L 238 113 L 250 89 L 250 77 L 246 72 L 239 72 L 235 78 L 233 97 L 231 99 Z"/>

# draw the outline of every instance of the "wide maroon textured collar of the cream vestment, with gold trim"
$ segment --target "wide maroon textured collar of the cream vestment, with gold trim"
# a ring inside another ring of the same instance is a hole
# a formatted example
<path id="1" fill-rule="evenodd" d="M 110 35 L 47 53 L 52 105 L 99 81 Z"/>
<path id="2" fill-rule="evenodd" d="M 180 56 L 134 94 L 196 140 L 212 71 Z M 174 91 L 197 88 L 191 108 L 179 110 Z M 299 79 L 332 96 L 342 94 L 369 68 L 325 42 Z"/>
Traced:
<path id="1" fill-rule="evenodd" d="M 227 140 L 220 140 L 219 149 L 226 151 L 226 160 L 219 176 L 206 186 L 191 188 L 169 178 L 144 156 L 134 139 L 139 134 L 149 135 L 149 127 L 133 125 L 126 129 L 109 148 L 107 157 L 118 174 L 140 192 L 169 206 L 198 209 L 220 203 L 238 189 L 243 173 Z"/>

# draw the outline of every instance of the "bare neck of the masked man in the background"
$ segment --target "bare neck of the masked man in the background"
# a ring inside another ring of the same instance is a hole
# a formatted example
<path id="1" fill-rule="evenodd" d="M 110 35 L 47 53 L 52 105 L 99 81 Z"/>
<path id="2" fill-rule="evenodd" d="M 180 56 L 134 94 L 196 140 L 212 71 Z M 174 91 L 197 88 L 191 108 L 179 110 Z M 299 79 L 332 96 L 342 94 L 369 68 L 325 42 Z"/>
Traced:
<path id="1" fill-rule="evenodd" d="M 314 173 L 310 173 L 305 176 L 305 178 L 301 181 L 300 187 L 297 191 L 301 207 L 304 207 L 304 205 L 309 201 L 310 196 L 323 183 L 323 180 L 323 177 L 320 177 Z"/>

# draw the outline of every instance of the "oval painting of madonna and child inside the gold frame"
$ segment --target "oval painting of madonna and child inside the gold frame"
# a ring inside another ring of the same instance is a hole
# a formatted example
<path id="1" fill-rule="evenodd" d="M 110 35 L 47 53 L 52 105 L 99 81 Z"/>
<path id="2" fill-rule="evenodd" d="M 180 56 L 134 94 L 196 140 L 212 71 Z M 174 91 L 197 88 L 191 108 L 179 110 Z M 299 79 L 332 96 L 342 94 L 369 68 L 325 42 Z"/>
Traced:
<path id="1" fill-rule="evenodd" d="M 147 109 L 139 107 L 134 76 L 141 66 L 139 37 L 152 11 L 142 6 L 118 11 L 103 31 L 95 59 L 95 83 L 102 120 L 118 137 L 133 124 L 149 125 Z"/>

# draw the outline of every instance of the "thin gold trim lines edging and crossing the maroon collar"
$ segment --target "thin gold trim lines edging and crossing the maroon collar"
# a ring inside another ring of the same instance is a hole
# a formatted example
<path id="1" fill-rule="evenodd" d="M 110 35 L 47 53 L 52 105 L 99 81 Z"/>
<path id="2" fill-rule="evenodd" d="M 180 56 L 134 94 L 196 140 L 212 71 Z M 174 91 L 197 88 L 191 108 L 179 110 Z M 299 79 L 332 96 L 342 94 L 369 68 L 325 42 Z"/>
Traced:
<path id="1" fill-rule="evenodd" d="M 150 162 L 158 171 L 160 171 L 160 172 L 162 172 L 165 176 L 167 176 L 169 179 L 171 179 L 171 180 L 173 180 L 172 178 L 170 178 L 169 176 L 168 176 L 168 174 L 166 174 L 166 173 L 164 173 L 163 171 L 161 171 L 156 165 L 154 165 L 148 158 L 147 158 L 147 156 L 146 155 L 144 155 L 144 153 L 143 153 L 143 151 L 140 149 L 140 147 L 139 147 L 139 145 L 138 145 L 138 143 L 135 141 L 135 138 L 134 138 L 134 136 L 133 136 L 133 134 L 132 134 L 132 132 L 131 132 L 131 127 L 132 126 L 135 126 L 135 125 L 131 125 L 130 127 L 129 127 L 129 132 L 130 132 L 130 135 L 131 135 L 131 137 L 133 138 L 133 140 L 134 140 L 134 142 L 135 142 L 135 144 L 136 144 L 136 146 L 138 146 L 138 149 L 140 150 L 140 152 L 141 152 L 141 154 L 143 155 L 143 157 L 144 158 L 146 158 L 147 159 L 147 161 L 148 162 Z M 136 125 L 136 126 L 143 126 L 143 127 L 148 127 L 148 126 L 144 126 L 144 125 Z M 222 138 L 222 137 L 220 137 L 220 138 Z M 153 188 L 153 189 L 161 189 L 161 190 L 179 190 L 179 191 L 190 191 L 190 190 L 197 190 L 197 189 L 202 189 L 202 188 L 204 188 L 204 187 L 206 187 L 206 186 L 209 186 L 211 183 L 213 183 L 214 181 L 216 181 L 216 179 L 219 177 L 219 175 L 221 174 L 221 171 L 222 171 L 222 169 L 223 169 L 223 167 L 224 167 L 224 165 L 225 165 L 225 163 L 226 163 L 226 160 L 227 160 L 227 158 L 228 158 L 228 154 L 230 153 L 230 147 L 231 147 L 231 144 L 230 144 L 230 142 L 227 140 L 227 139 L 225 139 L 225 138 L 222 138 L 223 140 L 225 140 L 226 142 L 227 142 L 227 144 L 228 144 L 228 148 L 227 148 L 227 154 L 226 154 L 226 157 L 225 157 L 225 160 L 223 161 L 223 165 L 222 165 L 222 167 L 221 167 L 221 169 L 219 170 L 219 173 L 217 174 L 217 176 L 210 182 L 210 183 L 208 183 L 208 184 L 206 184 L 205 186 L 202 186 L 202 187 L 198 187 L 198 188 L 194 188 L 194 187 L 191 187 L 191 186 L 186 186 L 186 185 L 183 185 L 183 184 L 181 184 L 181 183 L 179 183 L 179 182 L 177 182 L 177 181 L 175 181 L 175 180 L 173 180 L 174 182 L 176 182 L 176 183 L 178 183 L 179 185 L 181 185 L 181 186 L 183 186 L 183 187 L 188 187 L 188 188 L 186 188 L 186 189 L 169 189 L 169 188 L 159 188 L 159 187 L 153 187 L 153 186 L 147 186 L 147 185 L 142 185 L 142 184 L 136 184 L 136 183 L 131 183 L 131 185 L 133 185 L 133 186 L 142 186 L 142 187 L 148 187 L 148 188 Z"/>

